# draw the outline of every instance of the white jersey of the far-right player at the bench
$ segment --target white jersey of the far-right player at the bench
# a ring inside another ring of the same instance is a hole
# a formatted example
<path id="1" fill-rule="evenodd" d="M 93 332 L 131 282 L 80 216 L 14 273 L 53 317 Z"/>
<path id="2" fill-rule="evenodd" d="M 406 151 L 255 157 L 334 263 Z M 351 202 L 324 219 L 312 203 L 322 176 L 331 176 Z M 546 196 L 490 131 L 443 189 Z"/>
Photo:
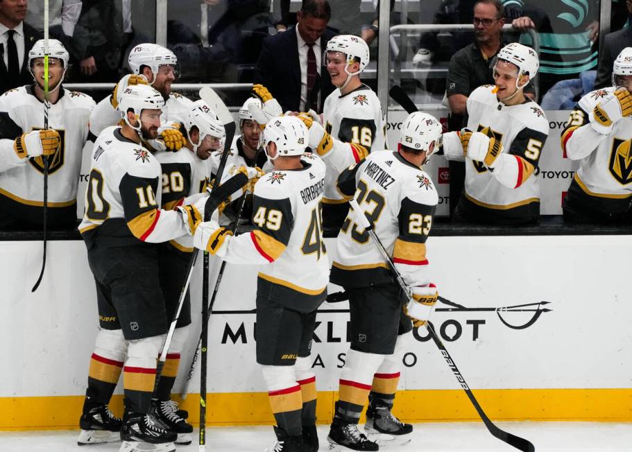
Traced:
<path id="1" fill-rule="evenodd" d="M 581 161 L 569 195 L 581 190 L 583 199 L 592 207 L 609 213 L 626 211 L 632 197 L 632 116 L 614 123 L 607 135 L 590 126 L 594 120 L 592 110 L 613 92 L 615 88 L 608 87 L 583 96 L 561 135 L 567 157 Z"/>

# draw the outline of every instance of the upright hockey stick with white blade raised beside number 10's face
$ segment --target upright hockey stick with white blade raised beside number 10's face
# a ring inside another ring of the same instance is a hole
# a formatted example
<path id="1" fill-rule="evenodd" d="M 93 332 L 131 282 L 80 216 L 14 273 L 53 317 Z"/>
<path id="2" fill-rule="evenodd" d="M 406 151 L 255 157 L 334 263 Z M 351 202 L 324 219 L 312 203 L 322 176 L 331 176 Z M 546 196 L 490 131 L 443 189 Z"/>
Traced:
<path id="1" fill-rule="evenodd" d="M 200 89 L 200 98 L 207 103 L 209 107 L 215 112 L 215 114 L 219 117 L 219 120 L 224 125 L 224 129 L 226 131 L 226 137 L 224 141 L 224 150 L 221 155 L 221 159 L 219 161 L 219 167 L 217 168 L 217 173 L 215 175 L 215 186 L 219 186 L 221 184 L 221 177 L 224 172 L 224 167 L 226 166 L 226 160 L 228 160 L 228 155 L 230 154 L 230 146 L 232 145 L 232 138 L 234 137 L 234 132 L 237 129 L 237 126 L 234 123 L 234 118 L 232 114 L 226 108 L 223 101 L 216 92 L 213 91 L 211 87 L 203 87 Z M 210 220 L 210 213 L 204 212 L 204 220 Z M 207 342 L 208 342 L 208 302 L 209 302 L 209 293 L 208 293 L 208 285 L 209 285 L 209 266 L 210 266 L 210 255 L 208 252 L 204 252 L 204 268 L 202 273 L 202 345 L 200 350 L 202 351 L 202 356 L 200 357 L 200 365 L 202 366 L 200 370 L 200 436 L 199 436 L 199 444 L 200 451 L 204 451 L 206 449 L 206 372 L 207 372 Z"/>

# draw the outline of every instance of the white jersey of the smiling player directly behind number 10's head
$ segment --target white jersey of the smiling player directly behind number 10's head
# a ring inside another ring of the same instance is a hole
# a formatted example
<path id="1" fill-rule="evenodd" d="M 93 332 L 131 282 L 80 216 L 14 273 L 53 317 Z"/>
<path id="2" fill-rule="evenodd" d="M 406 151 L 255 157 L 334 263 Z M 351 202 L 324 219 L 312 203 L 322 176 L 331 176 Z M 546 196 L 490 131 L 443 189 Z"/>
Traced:
<path id="1" fill-rule="evenodd" d="M 121 121 L 121 112 L 112 107 L 110 96 L 105 96 L 101 102 L 96 104 L 92 115 L 90 115 L 90 131 L 99 136 L 99 134 L 110 125 L 115 125 Z M 170 123 L 182 123 L 187 118 L 187 114 L 193 105 L 193 101 L 182 94 L 171 93 L 169 98 L 162 107 L 160 115 L 160 124 L 169 125 Z"/>

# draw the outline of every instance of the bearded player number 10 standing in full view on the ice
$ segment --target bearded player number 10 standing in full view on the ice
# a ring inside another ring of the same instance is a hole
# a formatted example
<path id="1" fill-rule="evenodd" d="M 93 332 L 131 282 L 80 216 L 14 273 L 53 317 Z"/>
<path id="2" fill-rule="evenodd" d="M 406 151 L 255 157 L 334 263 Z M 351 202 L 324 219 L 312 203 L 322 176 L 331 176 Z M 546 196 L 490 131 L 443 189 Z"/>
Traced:
<path id="1" fill-rule="evenodd" d="M 103 130 L 94 144 L 79 226 L 96 283 L 100 330 L 78 442 L 106 442 L 120 430 L 121 452 L 175 450 L 176 433 L 160 427 L 150 412 L 156 357 L 167 329 L 158 248 L 151 243 L 193 234 L 203 209 L 160 209 L 160 163 L 142 141 L 157 136 L 163 106 L 160 93 L 146 85 L 123 92 L 123 125 Z M 121 371 L 122 423 L 108 408 Z"/>

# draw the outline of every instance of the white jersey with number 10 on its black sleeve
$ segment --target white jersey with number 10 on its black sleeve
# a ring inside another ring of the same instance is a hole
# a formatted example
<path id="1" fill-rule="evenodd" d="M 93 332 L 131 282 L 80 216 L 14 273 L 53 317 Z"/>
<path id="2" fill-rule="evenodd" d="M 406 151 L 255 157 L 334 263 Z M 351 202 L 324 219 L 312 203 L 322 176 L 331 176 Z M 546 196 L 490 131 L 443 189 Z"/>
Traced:
<path id="1" fill-rule="evenodd" d="M 160 209 L 160 162 L 121 128 L 103 130 L 94 143 L 85 213 L 79 232 L 88 248 L 159 243 L 187 234 L 182 214 Z"/>

